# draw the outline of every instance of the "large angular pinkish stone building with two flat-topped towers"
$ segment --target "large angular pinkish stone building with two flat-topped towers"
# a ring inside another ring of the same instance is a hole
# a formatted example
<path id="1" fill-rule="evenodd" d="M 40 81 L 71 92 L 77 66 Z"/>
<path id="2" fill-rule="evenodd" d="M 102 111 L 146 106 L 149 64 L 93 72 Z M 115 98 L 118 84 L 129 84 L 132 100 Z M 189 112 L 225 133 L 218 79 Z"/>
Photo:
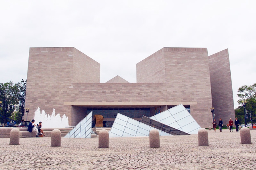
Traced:
<path id="1" fill-rule="evenodd" d="M 137 82 L 116 76 L 100 83 L 100 64 L 74 47 L 30 48 L 26 86 L 28 120 L 37 107 L 66 114 L 70 126 L 90 111 L 112 126 L 117 113 L 141 120 L 184 105 L 201 127 L 234 118 L 228 49 L 164 47 L 137 63 Z"/>

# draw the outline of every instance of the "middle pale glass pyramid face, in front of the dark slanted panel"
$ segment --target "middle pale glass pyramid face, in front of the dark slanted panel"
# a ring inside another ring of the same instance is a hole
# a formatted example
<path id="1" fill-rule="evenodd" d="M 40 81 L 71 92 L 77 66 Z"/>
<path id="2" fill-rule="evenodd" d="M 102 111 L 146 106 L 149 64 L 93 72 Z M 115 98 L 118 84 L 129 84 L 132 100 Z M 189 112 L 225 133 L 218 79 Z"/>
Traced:
<path id="1" fill-rule="evenodd" d="M 149 131 L 156 129 L 142 122 L 117 113 L 115 121 L 109 131 L 109 137 L 149 136 Z M 158 130 L 158 129 L 156 129 Z M 169 133 L 158 130 L 160 136 L 171 136 Z"/>

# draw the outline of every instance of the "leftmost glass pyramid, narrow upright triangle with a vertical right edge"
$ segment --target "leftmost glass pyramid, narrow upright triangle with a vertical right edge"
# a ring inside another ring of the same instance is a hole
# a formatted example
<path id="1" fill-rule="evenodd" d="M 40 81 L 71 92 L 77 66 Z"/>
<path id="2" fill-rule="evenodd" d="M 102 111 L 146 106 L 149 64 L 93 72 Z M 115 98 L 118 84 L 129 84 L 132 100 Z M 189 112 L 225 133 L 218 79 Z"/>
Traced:
<path id="1" fill-rule="evenodd" d="M 81 120 L 81 122 L 79 122 L 75 126 L 75 128 L 73 128 L 64 137 L 68 137 L 68 138 L 91 138 L 91 137 L 95 137 L 95 135 L 92 136 L 91 133 L 92 133 L 92 111 L 83 120 Z"/>

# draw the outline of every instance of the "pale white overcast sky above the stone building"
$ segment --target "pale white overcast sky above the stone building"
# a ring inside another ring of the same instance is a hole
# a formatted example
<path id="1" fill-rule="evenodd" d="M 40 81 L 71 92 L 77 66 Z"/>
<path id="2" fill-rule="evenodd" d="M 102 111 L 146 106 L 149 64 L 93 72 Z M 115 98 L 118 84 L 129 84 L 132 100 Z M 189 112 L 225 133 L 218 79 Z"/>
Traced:
<path id="1" fill-rule="evenodd" d="M 30 47 L 75 47 L 100 82 L 136 82 L 136 63 L 163 47 L 228 48 L 237 90 L 256 83 L 256 1 L 0 0 L 0 83 L 27 77 Z"/>

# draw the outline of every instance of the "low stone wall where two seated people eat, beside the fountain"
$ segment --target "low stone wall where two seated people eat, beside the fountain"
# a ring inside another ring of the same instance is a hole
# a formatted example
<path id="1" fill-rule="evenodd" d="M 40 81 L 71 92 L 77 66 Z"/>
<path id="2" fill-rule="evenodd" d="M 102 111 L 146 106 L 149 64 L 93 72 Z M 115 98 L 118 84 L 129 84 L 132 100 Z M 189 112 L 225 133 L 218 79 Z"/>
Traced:
<path id="1" fill-rule="evenodd" d="M 10 132 L 14 128 L 0 128 L 0 138 L 9 138 L 10 137 Z M 15 128 L 20 130 L 20 138 L 24 137 L 36 137 L 36 130 L 33 129 L 33 131 L 30 133 L 28 131 L 28 128 Z M 61 136 L 65 136 L 69 131 L 71 131 L 73 128 L 42 128 L 44 131 L 44 134 L 46 137 L 51 136 L 51 131 L 53 129 L 59 129 L 61 131 Z"/>

